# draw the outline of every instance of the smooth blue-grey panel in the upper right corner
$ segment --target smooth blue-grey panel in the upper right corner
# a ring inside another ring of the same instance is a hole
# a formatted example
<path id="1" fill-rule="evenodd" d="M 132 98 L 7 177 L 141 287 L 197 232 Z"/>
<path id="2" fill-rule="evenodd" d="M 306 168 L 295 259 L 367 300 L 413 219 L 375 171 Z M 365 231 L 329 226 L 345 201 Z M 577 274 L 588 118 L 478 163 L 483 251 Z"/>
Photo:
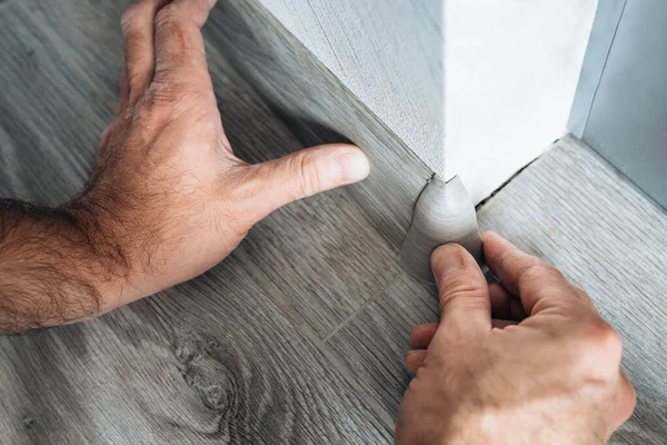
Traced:
<path id="1" fill-rule="evenodd" d="M 627 0 L 583 139 L 667 207 L 666 1 Z"/>

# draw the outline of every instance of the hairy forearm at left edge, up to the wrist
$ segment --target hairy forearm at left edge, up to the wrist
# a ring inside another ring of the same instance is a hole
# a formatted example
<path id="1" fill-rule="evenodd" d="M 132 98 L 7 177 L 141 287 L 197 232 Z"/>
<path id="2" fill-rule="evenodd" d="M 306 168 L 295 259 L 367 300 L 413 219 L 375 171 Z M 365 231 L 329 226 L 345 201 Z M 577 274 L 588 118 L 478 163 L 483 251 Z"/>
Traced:
<path id="1" fill-rule="evenodd" d="M 123 255 L 89 210 L 0 199 L 0 330 L 73 323 L 118 304 Z"/>

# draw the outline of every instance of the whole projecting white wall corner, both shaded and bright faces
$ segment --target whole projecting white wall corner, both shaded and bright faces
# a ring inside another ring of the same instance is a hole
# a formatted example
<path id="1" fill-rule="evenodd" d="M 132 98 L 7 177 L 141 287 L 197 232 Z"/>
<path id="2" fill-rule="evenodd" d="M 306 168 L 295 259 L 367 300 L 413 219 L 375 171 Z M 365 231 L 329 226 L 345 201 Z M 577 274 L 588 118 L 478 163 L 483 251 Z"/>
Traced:
<path id="1" fill-rule="evenodd" d="M 434 171 L 460 175 L 475 201 L 565 131 L 596 6 L 261 2 Z"/>

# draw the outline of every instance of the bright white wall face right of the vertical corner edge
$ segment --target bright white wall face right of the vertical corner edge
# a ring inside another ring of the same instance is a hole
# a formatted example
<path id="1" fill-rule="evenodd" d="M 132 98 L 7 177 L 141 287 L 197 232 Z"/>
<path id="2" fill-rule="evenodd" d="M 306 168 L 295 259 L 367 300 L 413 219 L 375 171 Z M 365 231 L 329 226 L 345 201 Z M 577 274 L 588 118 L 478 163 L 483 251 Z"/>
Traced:
<path id="1" fill-rule="evenodd" d="M 595 0 L 449 0 L 446 176 L 476 201 L 563 135 Z"/>

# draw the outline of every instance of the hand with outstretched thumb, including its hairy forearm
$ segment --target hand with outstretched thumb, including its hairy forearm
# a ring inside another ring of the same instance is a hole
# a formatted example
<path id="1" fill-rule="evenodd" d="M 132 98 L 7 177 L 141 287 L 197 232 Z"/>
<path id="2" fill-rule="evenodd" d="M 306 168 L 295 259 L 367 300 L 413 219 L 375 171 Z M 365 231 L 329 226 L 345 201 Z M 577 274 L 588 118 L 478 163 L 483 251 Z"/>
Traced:
<path id="1" fill-rule="evenodd" d="M 74 322 L 190 279 L 280 206 L 368 175 L 349 145 L 235 157 L 200 33 L 215 3 L 125 12 L 120 103 L 84 192 L 50 211 L 0 206 L 1 329 Z"/>

